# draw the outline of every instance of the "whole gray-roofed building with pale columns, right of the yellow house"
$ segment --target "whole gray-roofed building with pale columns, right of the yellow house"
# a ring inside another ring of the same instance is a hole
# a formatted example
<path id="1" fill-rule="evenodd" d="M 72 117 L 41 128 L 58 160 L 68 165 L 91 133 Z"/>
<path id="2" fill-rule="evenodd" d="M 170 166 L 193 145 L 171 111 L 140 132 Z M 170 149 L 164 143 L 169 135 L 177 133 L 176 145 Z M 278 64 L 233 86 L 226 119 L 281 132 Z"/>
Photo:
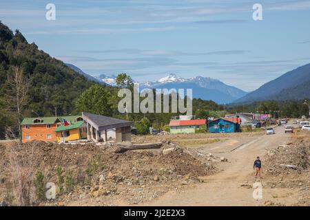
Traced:
<path id="1" fill-rule="evenodd" d="M 87 112 L 82 113 L 82 118 L 86 123 L 87 140 L 98 142 L 114 137 L 116 142 L 123 142 L 132 139 L 131 126 L 133 122 Z"/>

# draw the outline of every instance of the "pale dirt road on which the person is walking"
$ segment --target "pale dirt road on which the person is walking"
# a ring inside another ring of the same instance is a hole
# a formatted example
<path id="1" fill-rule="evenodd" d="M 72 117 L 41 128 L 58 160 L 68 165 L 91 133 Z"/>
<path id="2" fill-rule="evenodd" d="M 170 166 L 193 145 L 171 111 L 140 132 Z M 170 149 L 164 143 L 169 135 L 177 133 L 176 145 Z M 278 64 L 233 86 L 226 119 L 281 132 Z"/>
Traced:
<path id="1" fill-rule="evenodd" d="M 187 188 L 182 192 L 167 192 L 163 197 L 144 203 L 145 206 L 260 206 L 265 201 L 273 201 L 291 205 L 297 201 L 297 193 L 286 188 L 264 188 L 264 179 L 260 179 L 262 199 L 253 198 L 253 188 L 242 187 L 242 184 L 252 184 L 254 179 L 253 164 L 256 156 L 262 159 L 267 150 L 276 148 L 279 144 L 289 141 L 289 134 L 283 127 L 275 129 L 275 135 L 262 135 L 245 139 L 229 139 L 201 146 L 198 151 L 225 156 L 227 163 L 221 163 L 222 171 L 207 177 L 201 177 L 203 184 Z M 263 176 L 262 176 L 263 177 Z"/>

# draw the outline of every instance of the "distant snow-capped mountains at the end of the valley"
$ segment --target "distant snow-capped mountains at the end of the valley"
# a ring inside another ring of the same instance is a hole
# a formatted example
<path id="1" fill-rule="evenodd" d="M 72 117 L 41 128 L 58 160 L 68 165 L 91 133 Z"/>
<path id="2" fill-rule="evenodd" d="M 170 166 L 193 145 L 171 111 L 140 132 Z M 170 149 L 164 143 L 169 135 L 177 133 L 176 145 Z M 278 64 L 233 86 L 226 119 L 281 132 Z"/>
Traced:
<path id="1" fill-rule="evenodd" d="M 97 76 L 97 79 L 115 86 L 116 76 Z M 193 97 L 204 100 L 214 100 L 220 104 L 230 103 L 247 92 L 236 87 L 226 85 L 214 78 L 196 76 L 194 78 L 182 78 L 176 74 L 169 74 L 155 82 L 140 83 L 140 89 L 193 89 Z"/>

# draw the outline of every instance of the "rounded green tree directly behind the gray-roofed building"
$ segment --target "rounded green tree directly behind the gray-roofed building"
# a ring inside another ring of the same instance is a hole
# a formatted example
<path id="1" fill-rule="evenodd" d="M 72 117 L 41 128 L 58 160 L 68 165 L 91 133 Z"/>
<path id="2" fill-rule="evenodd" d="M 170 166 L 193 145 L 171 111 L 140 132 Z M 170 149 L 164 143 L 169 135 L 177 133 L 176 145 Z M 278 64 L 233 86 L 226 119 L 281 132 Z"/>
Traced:
<path id="1" fill-rule="evenodd" d="M 95 84 L 81 94 L 76 101 L 76 108 L 99 115 L 112 115 L 111 98 L 106 87 Z"/>

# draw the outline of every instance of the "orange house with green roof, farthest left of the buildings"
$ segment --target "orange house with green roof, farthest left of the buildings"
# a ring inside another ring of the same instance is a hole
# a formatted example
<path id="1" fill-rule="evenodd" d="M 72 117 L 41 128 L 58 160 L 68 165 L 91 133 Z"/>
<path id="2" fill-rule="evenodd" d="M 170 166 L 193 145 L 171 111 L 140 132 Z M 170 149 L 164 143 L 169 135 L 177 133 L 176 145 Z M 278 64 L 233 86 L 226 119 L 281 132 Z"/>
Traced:
<path id="1" fill-rule="evenodd" d="M 63 119 L 68 122 L 83 120 L 81 116 L 24 118 L 21 122 L 22 142 L 32 140 L 56 142 L 57 138 L 54 130 L 61 126 Z"/>

